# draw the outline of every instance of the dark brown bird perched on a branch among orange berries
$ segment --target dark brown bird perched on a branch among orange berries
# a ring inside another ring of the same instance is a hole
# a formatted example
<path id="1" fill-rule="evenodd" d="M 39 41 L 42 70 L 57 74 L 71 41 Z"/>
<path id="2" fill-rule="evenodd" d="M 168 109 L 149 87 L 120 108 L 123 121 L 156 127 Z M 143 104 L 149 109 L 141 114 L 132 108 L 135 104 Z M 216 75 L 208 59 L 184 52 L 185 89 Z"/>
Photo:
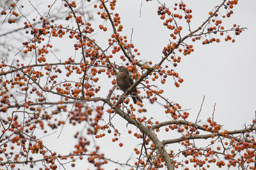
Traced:
<path id="1" fill-rule="evenodd" d="M 116 83 L 118 87 L 125 92 L 127 89 L 129 89 L 129 87 L 132 86 L 133 80 L 129 75 L 129 71 L 124 66 L 118 67 L 118 71 Z M 137 101 L 142 103 L 136 88 L 131 92 L 131 97 L 134 104 L 137 103 Z"/>

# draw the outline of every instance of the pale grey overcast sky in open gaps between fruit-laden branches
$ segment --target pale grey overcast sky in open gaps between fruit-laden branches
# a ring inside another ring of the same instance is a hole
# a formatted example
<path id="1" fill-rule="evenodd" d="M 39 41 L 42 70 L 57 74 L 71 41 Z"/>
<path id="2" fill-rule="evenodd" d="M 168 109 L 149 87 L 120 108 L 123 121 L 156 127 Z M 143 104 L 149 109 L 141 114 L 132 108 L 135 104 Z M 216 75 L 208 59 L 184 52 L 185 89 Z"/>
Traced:
<path id="1" fill-rule="evenodd" d="M 176 1 L 161 2 L 173 8 Z M 184 0 L 184 3 L 193 10 L 191 27 L 196 29 L 208 17 L 208 12 L 212 10 L 213 6 L 220 4 L 221 1 Z M 159 3 L 157 1 L 143 1 L 142 5 L 141 1 L 136 0 L 119 0 L 116 3 L 116 11 L 120 14 L 122 24 L 124 25 L 122 34 L 131 37 L 132 33 L 132 43 L 141 53 L 142 60 L 157 61 L 161 59 L 163 46 L 170 39 L 170 31 L 163 26 L 163 20 L 160 20 L 157 15 L 158 6 Z M 255 6 L 256 1 L 254 0 L 239 0 L 239 4 L 234 7 L 232 17 L 228 18 L 228 20 L 223 20 L 227 28 L 233 24 L 248 28 L 241 35 L 236 36 L 236 43 L 225 42 L 223 38 L 221 38 L 221 43 L 209 45 L 202 45 L 200 41 L 193 43 L 195 52 L 191 53 L 191 55 L 182 56 L 182 62 L 178 67 L 175 67 L 175 71 L 184 79 L 182 85 L 176 88 L 171 78 L 164 85 L 159 85 L 164 89 L 164 96 L 168 97 L 170 101 L 179 103 L 183 109 L 189 110 L 189 120 L 191 122 L 195 121 L 204 96 L 204 104 L 199 115 L 199 119 L 202 122 L 212 117 L 214 104 L 216 104 L 214 120 L 218 124 L 223 125 L 224 129 L 243 129 L 244 125 L 251 124 L 252 118 L 255 118 Z M 93 18 L 92 25 L 97 25 L 99 23 L 99 16 L 94 15 Z M 108 21 L 104 24 L 110 29 Z M 95 34 L 93 38 L 98 39 L 99 45 L 106 46 L 107 39 L 104 39 L 104 36 L 109 36 L 110 34 L 110 31 L 107 33 L 102 32 Z M 102 38 L 102 41 L 100 41 L 100 38 Z M 67 43 L 63 41 L 60 43 L 60 46 L 63 49 L 67 46 Z M 56 52 L 56 54 L 63 55 L 65 58 L 68 55 L 74 55 L 74 51 L 70 50 L 67 52 L 62 49 Z M 104 89 L 104 87 L 102 88 Z M 108 89 L 109 87 L 106 87 L 104 90 Z M 147 117 L 156 117 L 157 120 L 163 121 L 169 120 L 156 107 L 152 107 L 147 102 L 144 104 L 148 108 L 148 112 L 145 113 Z M 118 143 L 111 142 L 113 134 L 104 139 L 97 139 L 96 142 L 100 145 L 100 151 L 106 153 L 107 157 L 120 159 L 120 162 L 125 162 L 131 156 L 131 150 L 140 141 L 131 138 L 131 135 L 127 134 L 126 122 L 124 120 L 115 117 L 113 123 L 118 127 L 118 131 L 122 133 L 120 141 L 124 143 L 124 146 L 120 148 Z M 133 127 L 129 125 L 129 128 L 132 129 Z M 45 145 L 51 145 L 52 148 L 60 150 L 60 153 L 67 153 L 65 148 L 72 148 L 74 146 L 74 140 L 70 138 L 72 132 L 74 132 L 72 127 L 65 125 L 60 138 L 57 138 L 60 132 L 56 132 L 51 137 L 47 137 L 49 141 L 46 141 Z M 159 138 L 166 139 L 166 136 L 167 138 L 169 136 L 170 138 L 173 136 L 179 138 L 179 134 L 172 134 L 172 131 L 169 131 L 167 134 L 164 133 L 164 135 L 160 134 Z M 54 142 L 52 142 L 52 139 Z M 172 146 L 169 147 L 172 148 Z M 120 157 L 120 153 L 122 153 L 122 157 Z M 84 168 L 83 161 L 77 161 L 76 169 Z M 67 169 L 70 169 L 70 166 L 67 166 Z M 120 167 L 120 169 L 123 168 Z"/>

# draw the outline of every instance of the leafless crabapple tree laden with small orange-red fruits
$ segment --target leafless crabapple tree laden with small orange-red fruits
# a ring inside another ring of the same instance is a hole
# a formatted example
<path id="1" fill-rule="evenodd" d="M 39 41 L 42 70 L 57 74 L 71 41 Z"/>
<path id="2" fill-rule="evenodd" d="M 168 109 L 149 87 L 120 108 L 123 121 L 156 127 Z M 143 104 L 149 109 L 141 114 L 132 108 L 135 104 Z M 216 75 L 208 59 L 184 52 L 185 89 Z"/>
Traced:
<path id="1" fill-rule="evenodd" d="M 0 28 L 12 31 L 0 37 L 16 39 L 13 48 L 1 53 L 0 169 L 76 168 L 79 159 L 86 159 L 84 164 L 94 169 L 108 169 L 109 164 L 127 169 L 256 168 L 253 118 L 252 124 L 240 130 L 225 129 L 214 121 L 214 114 L 204 121 L 191 120 L 188 110 L 182 108 L 186 106 L 171 102 L 161 88 L 165 83 L 169 88 L 185 85 L 175 68 L 193 54 L 194 43 L 202 43 L 202 48 L 220 41 L 235 43 L 236 36 L 243 34 L 246 27 L 225 24 L 236 12 L 238 0 L 220 1 L 205 11 L 203 22 L 196 26 L 193 9 L 185 1 L 157 1 L 154 12 L 158 20 L 152 23 L 161 22 L 169 32 L 169 43 L 161 46 L 154 61 L 142 55 L 132 35 L 123 33 L 125 27 L 132 28 L 122 23 L 124 15 L 116 5 L 121 2 L 47 3 L 42 1 L 40 8 L 33 1 L 1 4 Z M 58 50 L 64 53 L 60 55 Z M 125 92 L 116 85 L 118 66 L 125 66 L 134 79 Z M 142 103 L 132 103 L 134 89 Z M 145 104 L 166 115 L 165 120 L 159 121 Z M 118 125 L 114 119 L 126 123 Z M 60 153 L 45 145 L 49 136 L 56 131 L 63 135 L 67 126 L 74 129 L 73 149 Z M 108 143 L 95 145 L 109 138 L 118 150 L 128 143 L 120 140 L 125 135 L 136 143 L 124 163 L 102 152 L 101 147 Z"/>

